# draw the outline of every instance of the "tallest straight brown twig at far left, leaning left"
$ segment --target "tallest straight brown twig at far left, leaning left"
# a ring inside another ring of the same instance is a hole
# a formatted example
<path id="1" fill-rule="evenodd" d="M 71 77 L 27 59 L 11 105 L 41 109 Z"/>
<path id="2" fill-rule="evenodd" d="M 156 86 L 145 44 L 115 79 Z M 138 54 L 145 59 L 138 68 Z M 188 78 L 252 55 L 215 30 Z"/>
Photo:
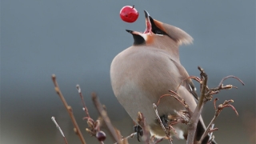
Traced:
<path id="1" fill-rule="evenodd" d="M 54 82 L 55 91 L 57 92 L 59 98 L 61 98 L 61 100 L 62 100 L 64 106 L 66 107 L 67 112 L 70 114 L 71 121 L 72 121 L 72 123 L 73 123 L 73 125 L 74 125 L 74 132 L 75 132 L 75 134 L 78 134 L 78 137 L 80 138 L 82 144 L 86 144 L 86 141 L 85 141 L 85 139 L 84 139 L 83 136 L 82 136 L 81 130 L 79 129 L 78 123 L 77 123 L 77 121 L 76 121 L 75 118 L 74 118 L 73 110 L 72 110 L 71 106 L 69 106 L 69 105 L 67 104 L 65 98 L 64 98 L 63 95 L 62 95 L 61 90 L 59 89 L 58 82 L 56 81 L 56 76 L 55 76 L 55 74 L 53 74 L 53 75 L 51 76 L 51 78 L 52 78 L 52 80 L 53 80 L 53 82 Z"/>

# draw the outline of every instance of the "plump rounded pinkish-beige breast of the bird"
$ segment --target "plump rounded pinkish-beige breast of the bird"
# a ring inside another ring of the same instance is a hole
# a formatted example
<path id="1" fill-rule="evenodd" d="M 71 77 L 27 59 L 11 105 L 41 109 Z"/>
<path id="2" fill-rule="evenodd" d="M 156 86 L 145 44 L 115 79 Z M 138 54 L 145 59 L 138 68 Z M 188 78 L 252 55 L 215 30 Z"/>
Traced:
<path id="1" fill-rule="evenodd" d="M 136 107 L 133 113 L 137 116 L 142 108 L 153 111 L 152 104 L 168 90 L 178 87 L 180 80 L 175 76 L 178 70 L 168 55 L 150 48 L 134 48 L 114 58 L 110 78 L 118 101 L 128 113 Z"/>

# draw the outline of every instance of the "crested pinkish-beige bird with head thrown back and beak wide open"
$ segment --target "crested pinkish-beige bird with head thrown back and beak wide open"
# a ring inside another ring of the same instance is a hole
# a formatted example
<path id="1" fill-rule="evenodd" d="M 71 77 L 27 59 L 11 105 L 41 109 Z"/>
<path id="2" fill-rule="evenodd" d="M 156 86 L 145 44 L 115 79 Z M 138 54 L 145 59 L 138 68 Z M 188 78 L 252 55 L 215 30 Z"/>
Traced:
<path id="1" fill-rule="evenodd" d="M 193 38 L 184 30 L 160 22 L 144 10 L 146 30 L 126 30 L 132 34 L 134 44 L 117 54 L 110 66 L 110 81 L 118 102 L 136 122 L 138 111 L 146 118 L 150 133 L 158 138 L 166 137 L 160 126 L 153 103 L 157 103 L 168 90 L 175 91 L 194 111 L 198 96 L 196 87 L 179 59 L 179 46 L 188 45 Z M 183 81 L 184 80 L 184 81 Z M 181 85 L 180 85 L 181 84 Z M 185 107 L 172 97 L 163 97 L 158 103 L 160 118 L 177 115 Z M 167 121 L 167 120 L 166 120 Z M 177 134 L 171 136 L 187 138 L 187 125 L 173 125 Z M 198 122 L 197 140 L 206 130 L 202 117 Z M 202 143 L 208 142 L 207 136 Z M 213 144 L 216 142 L 212 142 Z"/>

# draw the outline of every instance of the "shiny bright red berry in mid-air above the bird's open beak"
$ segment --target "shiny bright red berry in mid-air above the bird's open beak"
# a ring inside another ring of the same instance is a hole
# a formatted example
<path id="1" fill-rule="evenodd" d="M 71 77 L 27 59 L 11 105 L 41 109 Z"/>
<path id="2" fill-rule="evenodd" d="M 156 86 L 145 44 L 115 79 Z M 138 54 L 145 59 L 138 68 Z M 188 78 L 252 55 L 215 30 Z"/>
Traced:
<path id="1" fill-rule="evenodd" d="M 125 22 L 135 22 L 138 18 L 138 11 L 134 6 L 123 6 L 120 10 L 120 18 Z"/>

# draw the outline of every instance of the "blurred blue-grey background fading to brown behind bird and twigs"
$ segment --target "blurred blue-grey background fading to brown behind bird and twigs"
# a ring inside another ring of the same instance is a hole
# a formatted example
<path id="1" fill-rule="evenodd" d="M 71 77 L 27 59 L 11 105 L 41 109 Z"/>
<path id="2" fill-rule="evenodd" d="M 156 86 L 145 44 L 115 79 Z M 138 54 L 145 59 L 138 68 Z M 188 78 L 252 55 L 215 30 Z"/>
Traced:
<path id="1" fill-rule="evenodd" d="M 119 18 L 122 6 L 135 5 L 140 13 L 134 23 Z M 129 30 L 145 30 L 143 10 L 152 18 L 178 26 L 194 38 L 180 47 L 182 65 L 190 75 L 202 66 L 209 86 L 227 75 L 241 78 L 224 84 L 238 90 L 215 95 L 219 103 L 234 99 L 231 108 L 217 119 L 218 143 L 254 143 L 255 138 L 255 1 L 69 1 L 2 0 L 1 2 L 1 144 L 64 143 L 51 117 L 62 127 L 69 143 L 80 143 L 65 107 L 54 91 L 56 74 L 66 101 L 73 107 L 87 143 L 98 143 L 87 134 L 82 88 L 93 118 L 98 113 L 91 101 L 96 92 L 110 119 L 123 136 L 133 132 L 133 123 L 114 97 L 110 86 L 110 63 L 131 46 Z M 197 84 L 198 86 L 198 84 Z M 199 90 L 199 89 L 198 89 Z M 213 102 L 202 113 L 206 124 L 214 116 Z M 106 131 L 106 130 L 105 130 Z M 110 136 L 106 143 L 114 143 Z M 137 143 L 136 138 L 130 143 Z M 138 142 L 142 143 L 142 142 Z M 167 143 L 167 142 L 162 142 Z M 185 143 L 174 140 L 174 144 Z"/>

